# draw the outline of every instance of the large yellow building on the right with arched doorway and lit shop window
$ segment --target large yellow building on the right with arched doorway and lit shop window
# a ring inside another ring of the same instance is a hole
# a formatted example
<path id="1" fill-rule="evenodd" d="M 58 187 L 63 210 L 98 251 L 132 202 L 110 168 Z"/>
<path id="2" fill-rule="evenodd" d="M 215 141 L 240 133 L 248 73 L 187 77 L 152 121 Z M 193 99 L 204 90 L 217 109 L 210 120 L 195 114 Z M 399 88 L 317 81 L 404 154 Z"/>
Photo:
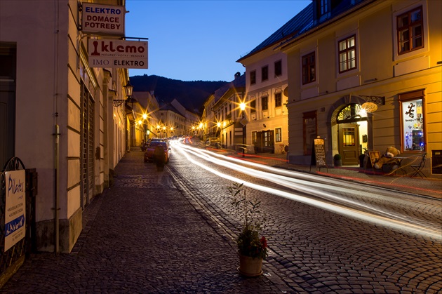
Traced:
<path id="1" fill-rule="evenodd" d="M 290 163 L 309 164 L 320 136 L 329 164 L 334 154 L 354 165 L 364 149 L 392 146 L 406 156 L 427 152 L 425 173 L 440 178 L 441 1 L 307 8 L 305 27 L 278 47 L 288 56 Z"/>

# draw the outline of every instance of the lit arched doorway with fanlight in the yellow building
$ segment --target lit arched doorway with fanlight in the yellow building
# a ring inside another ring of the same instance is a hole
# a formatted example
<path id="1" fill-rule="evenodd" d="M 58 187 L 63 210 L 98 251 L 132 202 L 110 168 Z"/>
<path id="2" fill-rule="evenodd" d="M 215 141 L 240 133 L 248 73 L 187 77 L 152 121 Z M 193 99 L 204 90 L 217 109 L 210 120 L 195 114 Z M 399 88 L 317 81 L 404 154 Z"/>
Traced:
<path id="1" fill-rule="evenodd" d="M 338 149 L 342 165 L 359 164 L 359 155 L 367 147 L 367 112 L 357 103 L 349 103 L 336 115 Z"/>

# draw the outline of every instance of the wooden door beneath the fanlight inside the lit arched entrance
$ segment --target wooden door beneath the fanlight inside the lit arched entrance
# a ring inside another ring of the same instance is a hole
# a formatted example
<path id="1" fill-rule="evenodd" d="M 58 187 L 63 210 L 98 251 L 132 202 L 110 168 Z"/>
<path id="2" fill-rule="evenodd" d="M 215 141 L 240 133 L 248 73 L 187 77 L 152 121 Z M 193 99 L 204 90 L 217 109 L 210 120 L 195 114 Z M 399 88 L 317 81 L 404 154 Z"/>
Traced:
<path id="1" fill-rule="evenodd" d="M 359 165 L 359 125 L 341 123 L 339 125 L 339 153 L 343 166 Z"/>

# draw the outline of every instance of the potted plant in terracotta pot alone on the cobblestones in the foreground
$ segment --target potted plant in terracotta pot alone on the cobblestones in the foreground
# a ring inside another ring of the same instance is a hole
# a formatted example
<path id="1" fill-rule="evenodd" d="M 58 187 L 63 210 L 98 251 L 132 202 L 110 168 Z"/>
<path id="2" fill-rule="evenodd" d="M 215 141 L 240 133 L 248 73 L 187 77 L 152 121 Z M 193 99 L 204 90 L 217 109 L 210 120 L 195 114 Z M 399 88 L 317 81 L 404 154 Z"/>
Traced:
<path id="1" fill-rule="evenodd" d="M 243 184 L 234 183 L 229 187 L 231 203 L 241 217 L 241 231 L 236 238 L 239 255 L 238 271 L 244 276 L 260 276 L 262 260 L 267 257 L 267 239 L 260 236 L 265 220 L 259 211 L 261 201 L 246 196 Z"/>

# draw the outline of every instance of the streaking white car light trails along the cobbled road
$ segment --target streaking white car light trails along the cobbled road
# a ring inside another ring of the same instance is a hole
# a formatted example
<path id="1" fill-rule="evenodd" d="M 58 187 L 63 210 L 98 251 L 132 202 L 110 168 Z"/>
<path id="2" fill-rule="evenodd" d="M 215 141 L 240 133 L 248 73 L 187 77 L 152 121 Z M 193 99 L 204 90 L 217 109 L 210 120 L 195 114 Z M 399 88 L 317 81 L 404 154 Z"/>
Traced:
<path id="1" fill-rule="evenodd" d="M 345 192 L 348 194 L 354 194 L 354 189 L 351 188 L 345 188 L 345 187 L 335 187 L 336 181 L 332 179 L 326 179 L 321 177 L 316 177 L 314 180 L 318 180 L 317 178 L 321 178 L 321 182 L 324 182 L 325 184 L 321 184 L 320 182 L 310 182 L 309 180 L 312 180 L 312 175 L 306 175 L 302 173 L 296 173 L 296 176 L 299 178 L 304 178 L 306 180 L 300 180 L 295 178 L 289 178 L 288 176 L 283 175 L 293 175 L 293 171 L 285 171 L 281 170 L 279 168 L 272 168 L 269 166 L 262 166 L 257 163 L 253 163 L 250 161 L 241 161 L 241 159 L 234 159 L 231 157 L 226 157 L 223 155 L 215 154 L 213 152 L 208 152 L 203 149 L 196 149 L 193 147 L 189 147 L 187 145 L 179 145 L 176 146 L 177 149 L 192 163 L 194 163 L 196 166 L 200 166 L 201 168 L 205 169 L 206 171 L 209 171 L 210 173 L 213 173 L 221 178 L 225 178 L 227 180 L 231 180 L 233 182 L 239 182 L 243 183 L 244 186 L 250 187 L 253 189 L 257 189 L 262 192 L 267 192 L 271 194 L 275 194 L 278 196 L 282 196 L 287 199 L 291 199 L 294 201 L 300 201 L 302 203 L 306 203 L 312 206 L 316 206 L 322 209 L 326 209 L 328 211 L 333 211 L 334 213 L 339 213 L 341 215 L 346 215 L 351 218 L 358 218 L 360 220 L 373 222 L 378 225 L 383 225 L 385 227 L 390 227 L 394 229 L 400 229 L 412 234 L 417 234 L 421 236 L 428 236 L 431 238 L 434 238 L 438 241 L 441 241 L 442 239 L 442 233 L 441 230 L 426 227 L 424 225 L 420 225 L 418 220 L 408 220 L 406 218 L 403 218 L 401 215 L 395 215 L 393 213 L 388 213 L 385 211 L 382 211 L 378 208 L 374 208 L 373 206 L 367 206 L 365 203 L 358 203 L 356 201 L 352 201 L 349 199 L 344 199 L 340 196 L 337 196 L 335 194 L 326 193 L 323 190 L 329 190 L 334 192 Z M 311 194 L 313 196 L 321 196 L 323 199 L 327 200 L 333 200 L 333 201 L 339 201 L 347 203 L 347 205 L 356 206 L 359 208 L 365 208 L 370 211 L 373 211 L 375 213 L 379 213 L 380 215 L 373 214 L 373 213 L 367 213 L 364 211 L 360 211 L 358 209 L 349 208 L 349 207 L 343 207 L 338 206 L 333 203 L 326 203 L 323 201 L 319 201 L 316 199 L 310 199 L 306 196 L 301 196 L 299 194 L 293 194 L 292 192 L 286 192 L 280 189 L 274 189 L 271 187 L 265 187 L 262 185 L 257 185 L 252 182 L 247 182 L 244 180 L 241 180 L 239 178 L 235 178 L 232 175 L 227 175 L 225 173 L 221 173 L 220 171 L 215 170 L 214 168 L 210 168 L 209 166 L 206 166 L 205 164 L 196 161 L 192 159 L 192 157 L 189 154 L 193 154 L 194 156 L 198 156 L 201 159 L 204 159 L 206 161 L 210 161 L 211 163 L 215 163 L 220 166 L 224 166 L 227 168 L 232 168 L 234 171 L 239 171 L 241 173 L 245 173 L 247 175 L 251 175 L 255 178 L 261 178 L 264 180 L 269 180 L 271 182 L 275 182 L 278 185 L 282 185 L 283 187 L 287 187 L 289 189 L 297 189 L 302 191 L 306 194 Z M 267 171 L 272 171 L 272 173 L 257 171 L 253 168 L 246 168 L 244 166 L 229 163 L 227 161 L 233 161 L 238 162 L 241 164 L 246 164 L 249 166 L 253 166 L 255 168 L 261 168 Z M 275 173 L 280 173 L 283 175 L 277 175 Z M 308 180 L 309 179 L 309 180 Z M 375 197 L 376 199 L 380 199 L 380 196 L 373 193 L 364 192 L 364 196 L 371 196 Z"/>

